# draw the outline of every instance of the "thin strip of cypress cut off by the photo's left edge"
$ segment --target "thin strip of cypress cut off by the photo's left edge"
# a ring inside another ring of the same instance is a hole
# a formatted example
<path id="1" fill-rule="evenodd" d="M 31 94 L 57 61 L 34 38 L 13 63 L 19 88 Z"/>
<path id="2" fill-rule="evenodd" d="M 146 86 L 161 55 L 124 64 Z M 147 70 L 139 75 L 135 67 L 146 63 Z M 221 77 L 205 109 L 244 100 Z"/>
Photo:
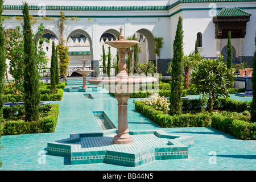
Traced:
<path id="1" fill-rule="evenodd" d="M 5 28 L 2 26 L 3 0 L 0 0 L 0 121 L 3 117 L 3 87 L 5 86 L 6 71 L 6 48 L 5 48 Z M 0 133 L 1 135 L 1 133 Z M 1 148 L 1 146 L 0 146 Z M 0 163 L 1 164 L 1 163 Z"/>

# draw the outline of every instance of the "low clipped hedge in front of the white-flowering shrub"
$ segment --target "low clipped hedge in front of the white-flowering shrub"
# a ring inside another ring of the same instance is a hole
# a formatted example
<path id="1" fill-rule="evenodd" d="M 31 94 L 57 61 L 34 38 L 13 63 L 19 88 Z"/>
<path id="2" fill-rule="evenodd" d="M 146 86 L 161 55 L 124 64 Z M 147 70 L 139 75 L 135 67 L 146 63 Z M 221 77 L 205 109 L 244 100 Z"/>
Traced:
<path id="1" fill-rule="evenodd" d="M 142 101 L 135 101 L 135 110 L 161 127 L 210 126 L 210 117 L 208 114 L 204 113 L 168 115 L 163 114 L 163 111 L 155 110 L 153 107 L 145 105 Z"/>

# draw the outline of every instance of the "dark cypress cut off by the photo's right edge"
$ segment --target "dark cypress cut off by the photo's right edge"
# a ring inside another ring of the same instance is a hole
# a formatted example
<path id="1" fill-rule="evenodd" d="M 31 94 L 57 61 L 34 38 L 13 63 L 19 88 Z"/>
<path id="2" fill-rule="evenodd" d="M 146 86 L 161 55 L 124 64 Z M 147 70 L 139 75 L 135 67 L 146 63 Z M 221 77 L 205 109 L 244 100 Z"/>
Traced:
<path id="1" fill-rule="evenodd" d="M 253 101 L 251 101 L 251 122 L 256 122 L 256 50 L 254 51 L 253 75 L 251 77 L 251 84 L 253 87 Z"/>

